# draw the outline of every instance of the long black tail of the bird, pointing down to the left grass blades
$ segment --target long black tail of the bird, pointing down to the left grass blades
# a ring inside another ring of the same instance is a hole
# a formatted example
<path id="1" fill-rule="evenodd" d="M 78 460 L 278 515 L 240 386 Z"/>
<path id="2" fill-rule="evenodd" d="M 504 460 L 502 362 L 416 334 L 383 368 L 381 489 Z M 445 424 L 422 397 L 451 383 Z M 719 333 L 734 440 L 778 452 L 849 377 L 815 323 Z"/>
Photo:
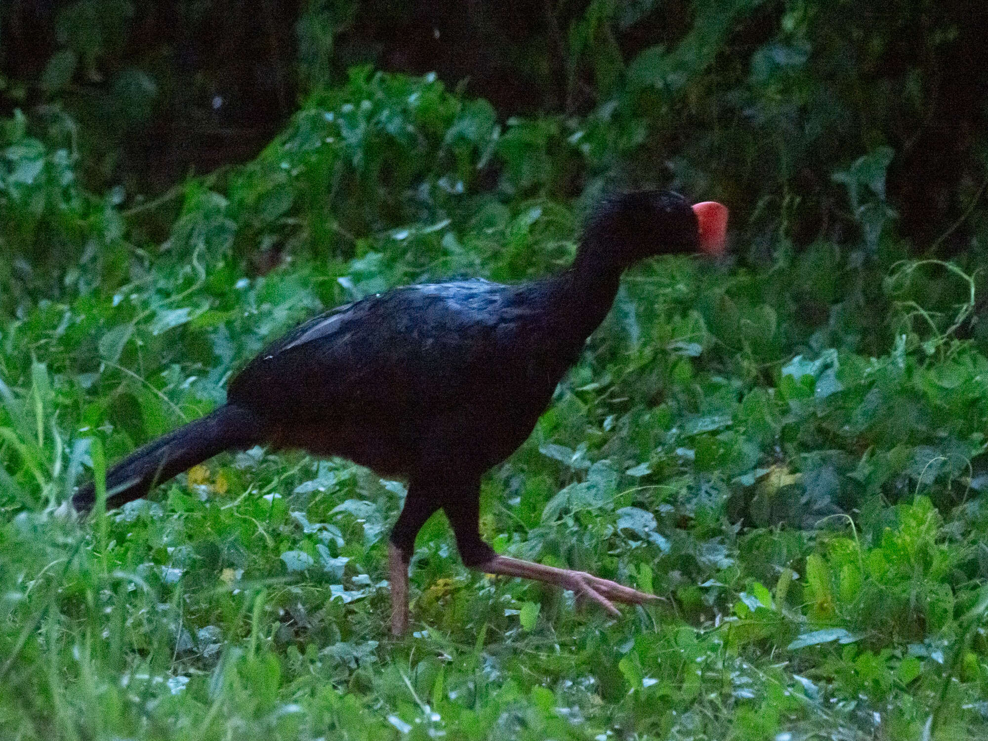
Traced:
<path id="1" fill-rule="evenodd" d="M 241 406 L 224 404 L 205 417 L 154 440 L 127 455 L 107 473 L 107 506 L 147 494 L 156 484 L 201 463 L 216 453 L 244 450 L 264 440 L 258 416 Z M 92 509 L 95 484 L 90 481 L 75 492 L 72 505 L 77 512 Z"/>

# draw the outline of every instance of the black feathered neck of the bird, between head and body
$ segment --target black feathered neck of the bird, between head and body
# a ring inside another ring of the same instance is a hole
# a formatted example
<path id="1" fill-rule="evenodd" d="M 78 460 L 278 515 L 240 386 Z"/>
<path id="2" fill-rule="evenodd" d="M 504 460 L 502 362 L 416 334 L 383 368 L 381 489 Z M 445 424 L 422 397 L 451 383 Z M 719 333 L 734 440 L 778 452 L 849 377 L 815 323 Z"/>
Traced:
<path id="1" fill-rule="evenodd" d="M 606 252 L 581 249 L 569 270 L 555 279 L 559 331 L 581 347 L 608 315 L 620 285 L 623 266 L 606 256 Z"/>

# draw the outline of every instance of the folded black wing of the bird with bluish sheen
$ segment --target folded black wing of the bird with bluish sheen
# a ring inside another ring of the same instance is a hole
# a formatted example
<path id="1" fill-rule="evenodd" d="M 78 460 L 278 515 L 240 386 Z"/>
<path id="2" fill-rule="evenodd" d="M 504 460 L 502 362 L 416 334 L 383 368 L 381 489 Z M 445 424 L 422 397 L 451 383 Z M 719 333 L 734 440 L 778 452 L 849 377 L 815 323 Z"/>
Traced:
<path id="1" fill-rule="evenodd" d="M 233 379 L 229 400 L 299 420 L 456 404 L 509 362 L 506 327 L 526 313 L 512 290 L 485 281 L 412 286 L 341 306 L 262 351 Z"/>

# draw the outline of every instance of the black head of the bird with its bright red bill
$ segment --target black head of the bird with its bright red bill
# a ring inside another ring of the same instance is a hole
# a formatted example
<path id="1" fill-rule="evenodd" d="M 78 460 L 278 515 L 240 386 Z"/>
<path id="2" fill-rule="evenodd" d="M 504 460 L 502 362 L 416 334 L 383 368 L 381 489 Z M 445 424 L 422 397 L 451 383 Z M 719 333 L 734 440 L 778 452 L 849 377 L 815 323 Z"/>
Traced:
<path id="1" fill-rule="evenodd" d="M 670 191 L 636 191 L 605 200 L 587 222 L 584 247 L 620 268 L 654 255 L 720 255 L 727 208 L 712 201 L 690 206 Z"/>

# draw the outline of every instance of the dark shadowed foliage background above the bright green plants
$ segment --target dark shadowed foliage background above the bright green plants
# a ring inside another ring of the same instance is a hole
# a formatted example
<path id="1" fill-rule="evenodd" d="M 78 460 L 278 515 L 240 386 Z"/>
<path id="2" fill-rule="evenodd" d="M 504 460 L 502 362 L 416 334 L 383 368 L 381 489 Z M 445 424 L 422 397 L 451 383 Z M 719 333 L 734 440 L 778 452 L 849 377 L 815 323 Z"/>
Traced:
<path id="1" fill-rule="evenodd" d="M 984 4 L 962 0 L 4 0 L 0 113 L 49 128 L 67 115 L 90 188 L 153 194 L 250 159 L 353 64 L 435 71 L 502 120 L 622 101 L 654 124 L 645 166 L 705 160 L 749 214 L 767 196 L 798 197 L 797 242 L 834 224 L 819 173 L 890 146 L 888 203 L 922 249 L 983 177 L 986 31 Z M 674 95 L 632 90 L 628 103 L 629 69 L 657 44 L 687 66 L 705 57 Z M 959 229 L 936 246 L 968 238 Z"/>

